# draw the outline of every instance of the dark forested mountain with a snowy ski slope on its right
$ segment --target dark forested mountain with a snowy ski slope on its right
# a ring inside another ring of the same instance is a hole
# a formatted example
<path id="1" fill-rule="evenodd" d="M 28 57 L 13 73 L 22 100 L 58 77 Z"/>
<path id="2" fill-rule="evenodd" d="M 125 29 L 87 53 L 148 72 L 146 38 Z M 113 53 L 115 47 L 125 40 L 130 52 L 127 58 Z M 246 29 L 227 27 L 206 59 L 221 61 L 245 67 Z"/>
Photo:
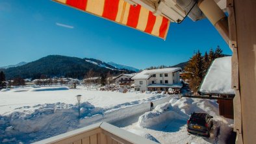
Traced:
<path id="1" fill-rule="evenodd" d="M 71 77 L 71 78 L 83 78 L 86 73 L 92 69 L 95 75 L 101 73 L 110 73 L 112 75 L 119 75 L 120 73 L 133 73 L 134 71 L 120 71 L 114 67 L 105 64 L 104 62 L 97 61 L 97 64 L 93 64 L 94 61 L 89 61 L 89 58 L 76 58 L 70 56 L 49 55 L 44 58 L 40 58 L 34 62 L 29 62 L 23 66 L 10 67 L 4 69 L 6 79 L 14 77 L 22 78 L 40 78 L 41 75 L 47 75 L 47 77 Z"/>

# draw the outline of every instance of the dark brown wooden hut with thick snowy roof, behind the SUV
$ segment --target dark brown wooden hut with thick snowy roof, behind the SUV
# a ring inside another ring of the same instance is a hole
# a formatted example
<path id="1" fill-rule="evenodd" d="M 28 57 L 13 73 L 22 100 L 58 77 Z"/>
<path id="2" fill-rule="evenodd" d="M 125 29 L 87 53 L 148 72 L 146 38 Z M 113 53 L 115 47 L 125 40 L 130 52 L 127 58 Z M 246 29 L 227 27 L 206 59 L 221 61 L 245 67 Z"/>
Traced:
<path id="1" fill-rule="evenodd" d="M 220 115 L 233 119 L 233 98 L 235 91 L 231 88 L 231 56 L 216 58 L 205 75 L 199 88 L 203 97 L 218 99 Z"/>

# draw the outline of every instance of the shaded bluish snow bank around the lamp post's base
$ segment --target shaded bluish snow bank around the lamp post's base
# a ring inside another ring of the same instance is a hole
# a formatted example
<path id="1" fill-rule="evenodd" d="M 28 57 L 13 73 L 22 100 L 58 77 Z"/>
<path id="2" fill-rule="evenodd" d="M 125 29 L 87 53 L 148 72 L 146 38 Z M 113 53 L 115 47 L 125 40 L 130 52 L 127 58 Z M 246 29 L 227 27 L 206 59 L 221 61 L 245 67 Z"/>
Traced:
<path id="1" fill-rule="evenodd" d="M 23 112 L 0 115 L 0 142 L 31 143 L 78 128 L 77 105 L 58 102 L 22 109 Z M 89 102 L 81 104 L 81 118 L 96 114 L 103 114 L 103 109 L 96 108 Z"/>

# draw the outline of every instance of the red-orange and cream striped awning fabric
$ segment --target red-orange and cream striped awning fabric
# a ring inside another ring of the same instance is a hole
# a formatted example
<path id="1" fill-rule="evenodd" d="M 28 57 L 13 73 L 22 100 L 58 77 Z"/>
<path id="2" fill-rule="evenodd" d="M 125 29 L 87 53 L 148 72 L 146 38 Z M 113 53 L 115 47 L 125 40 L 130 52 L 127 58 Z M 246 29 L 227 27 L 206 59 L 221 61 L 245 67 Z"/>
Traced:
<path id="1" fill-rule="evenodd" d="M 63 5 L 166 39 L 170 21 L 123 0 L 53 0 Z"/>

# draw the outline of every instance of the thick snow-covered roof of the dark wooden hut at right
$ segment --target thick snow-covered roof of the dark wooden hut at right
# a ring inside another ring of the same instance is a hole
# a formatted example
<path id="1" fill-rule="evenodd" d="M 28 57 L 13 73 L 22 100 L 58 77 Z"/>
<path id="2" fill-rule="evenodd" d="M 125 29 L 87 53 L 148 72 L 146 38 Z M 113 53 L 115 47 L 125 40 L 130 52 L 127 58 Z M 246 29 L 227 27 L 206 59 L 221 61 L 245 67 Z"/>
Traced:
<path id="1" fill-rule="evenodd" d="M 199 88 L 201 93 L 235 95 L 231 88 L 231 56 L 216 58 Z"/>

